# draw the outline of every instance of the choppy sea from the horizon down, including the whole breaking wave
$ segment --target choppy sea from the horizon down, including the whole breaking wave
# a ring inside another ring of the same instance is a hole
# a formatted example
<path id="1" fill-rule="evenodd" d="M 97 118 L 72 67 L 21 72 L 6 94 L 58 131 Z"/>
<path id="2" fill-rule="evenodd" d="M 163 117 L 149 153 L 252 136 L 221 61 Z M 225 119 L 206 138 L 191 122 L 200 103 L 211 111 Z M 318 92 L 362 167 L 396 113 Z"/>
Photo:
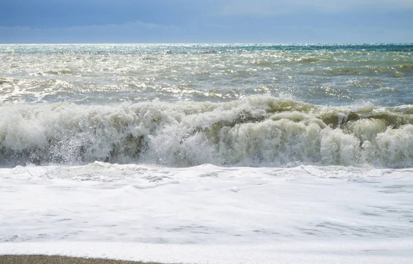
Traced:
<path id="1" fill-rule="evenodd" d="M 0 164 L 413 166 L 413 44 L 1 45 Z"/>

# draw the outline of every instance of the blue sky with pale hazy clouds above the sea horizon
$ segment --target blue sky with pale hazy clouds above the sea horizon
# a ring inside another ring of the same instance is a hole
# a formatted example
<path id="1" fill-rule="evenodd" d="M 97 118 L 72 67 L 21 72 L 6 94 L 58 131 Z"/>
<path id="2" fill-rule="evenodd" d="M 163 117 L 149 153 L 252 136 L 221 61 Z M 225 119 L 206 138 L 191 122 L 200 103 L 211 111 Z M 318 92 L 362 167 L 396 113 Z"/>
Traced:
<path id="1" fill-rule="evenodd" d="M 412 43 L 413 0 L 0 0 L 0 43 Z"/>

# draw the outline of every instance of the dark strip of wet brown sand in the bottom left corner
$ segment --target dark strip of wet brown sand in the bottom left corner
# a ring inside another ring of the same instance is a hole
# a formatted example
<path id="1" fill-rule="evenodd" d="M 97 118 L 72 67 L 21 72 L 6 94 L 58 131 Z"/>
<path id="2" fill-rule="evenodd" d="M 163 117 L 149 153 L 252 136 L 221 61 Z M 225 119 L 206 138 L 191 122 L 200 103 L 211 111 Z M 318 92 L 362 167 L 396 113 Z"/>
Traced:
<path id="1" fill-rule="evenodd" d="M 4 255 L 0 264 L 149 264 L 140 261 L 114 261 L 111 259 L 84 259 L 69 256 Z M 150 263 L 160 264 L 160 263 Z"/>

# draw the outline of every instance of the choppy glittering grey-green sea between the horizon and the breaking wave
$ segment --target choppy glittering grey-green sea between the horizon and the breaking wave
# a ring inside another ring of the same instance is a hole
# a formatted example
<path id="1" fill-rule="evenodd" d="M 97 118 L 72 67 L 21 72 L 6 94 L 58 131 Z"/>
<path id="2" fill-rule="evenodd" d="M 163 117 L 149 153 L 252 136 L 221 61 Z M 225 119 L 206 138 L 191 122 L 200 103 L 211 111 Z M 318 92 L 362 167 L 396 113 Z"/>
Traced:
<path id="1" fill-rule="evenodd" d="M 410 104 L 412 44 L 0 45 L 3 102 Z"/>

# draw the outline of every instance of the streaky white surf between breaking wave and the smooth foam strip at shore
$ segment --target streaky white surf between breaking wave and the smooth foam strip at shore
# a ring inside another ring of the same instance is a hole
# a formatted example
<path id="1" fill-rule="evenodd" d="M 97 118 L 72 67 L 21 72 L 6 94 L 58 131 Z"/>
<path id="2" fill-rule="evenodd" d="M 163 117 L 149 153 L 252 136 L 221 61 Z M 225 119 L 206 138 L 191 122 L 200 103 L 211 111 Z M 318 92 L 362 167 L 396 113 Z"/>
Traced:
<path id="1" fill-rule="evenodd" d="M 0 174 L 3 242 L 255 245 L 413 234 L 410 169 L 94 162 Z"/>

